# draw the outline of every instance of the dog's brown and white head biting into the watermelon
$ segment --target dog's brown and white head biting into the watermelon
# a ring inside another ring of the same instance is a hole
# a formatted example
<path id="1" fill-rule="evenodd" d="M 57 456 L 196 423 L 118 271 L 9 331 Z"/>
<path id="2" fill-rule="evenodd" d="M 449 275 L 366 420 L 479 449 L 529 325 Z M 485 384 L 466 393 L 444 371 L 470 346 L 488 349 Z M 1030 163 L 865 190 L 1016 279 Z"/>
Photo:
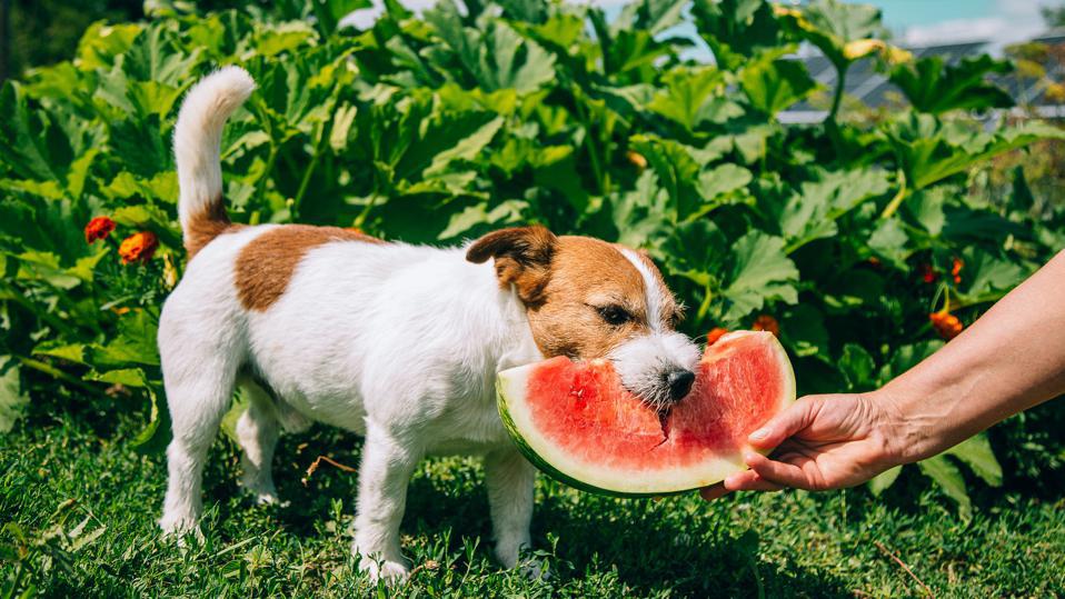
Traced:
<path id="1" fill-rule="evenodd" d="M 643 252 L 543 227 L 495 231 L 467 251 L 514 286 L 544 356 L 606 358 L 633 393 L 665 409 L 688 393 L 699 350 L 675 327 L 681 307 Z"/>

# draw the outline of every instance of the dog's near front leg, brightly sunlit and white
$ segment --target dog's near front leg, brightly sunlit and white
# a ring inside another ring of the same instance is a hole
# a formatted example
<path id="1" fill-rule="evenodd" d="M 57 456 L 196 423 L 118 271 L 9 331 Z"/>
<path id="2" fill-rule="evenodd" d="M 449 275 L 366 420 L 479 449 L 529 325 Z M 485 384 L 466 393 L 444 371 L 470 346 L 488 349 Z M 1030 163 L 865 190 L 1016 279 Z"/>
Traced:
<path id="1" fill-rule="evenodd" d="M 367 419 L 351 550 L 361 556 L 359 569 L 369 572 L 375 582 L 407 578 L 399 522 L 407 506 L 407 483 L 422 456 L 412 445 Z"/>

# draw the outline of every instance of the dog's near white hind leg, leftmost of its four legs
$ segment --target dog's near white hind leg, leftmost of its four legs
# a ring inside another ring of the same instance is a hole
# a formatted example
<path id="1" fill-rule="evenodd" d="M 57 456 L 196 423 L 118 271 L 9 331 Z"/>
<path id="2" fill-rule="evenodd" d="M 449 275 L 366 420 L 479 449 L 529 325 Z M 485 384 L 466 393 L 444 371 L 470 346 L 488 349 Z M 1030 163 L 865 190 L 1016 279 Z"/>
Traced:
<path id="1" fill-rule="evenodd" d="M 188 342 L 160 319 L 160 355 L 173 440 L 167 447 L 163 533 L 197 531 L 202 511 L 201 479 L 207 451 L 232 402 L 237 357 L 231 348 Z"/>

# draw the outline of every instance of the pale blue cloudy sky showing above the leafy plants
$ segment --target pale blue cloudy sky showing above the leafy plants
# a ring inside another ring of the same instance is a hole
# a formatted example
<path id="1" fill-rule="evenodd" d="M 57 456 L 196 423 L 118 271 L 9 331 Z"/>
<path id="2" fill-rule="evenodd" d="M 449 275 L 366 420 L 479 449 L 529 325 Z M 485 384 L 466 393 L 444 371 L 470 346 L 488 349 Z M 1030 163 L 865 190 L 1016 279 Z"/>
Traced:
<path id="1" fill-rule="evenodd" d="M 616 12 L 630 0 L 577 0 Z M 1062 6 L 1065 0 L 864 0 L 880 7 L 884 23 L 904 46 L 930 46 L 962 41 L 991 41 L 992 49 L 1023 41 L 1046 28 L 1042 6 Z M 420 10 L 436 0 L 401 0 Z M 375 0 L 380 6 L 380 0 Z M 372 22 L 380 9 L 356 11 L 346 21 L 361 27 Z"/>

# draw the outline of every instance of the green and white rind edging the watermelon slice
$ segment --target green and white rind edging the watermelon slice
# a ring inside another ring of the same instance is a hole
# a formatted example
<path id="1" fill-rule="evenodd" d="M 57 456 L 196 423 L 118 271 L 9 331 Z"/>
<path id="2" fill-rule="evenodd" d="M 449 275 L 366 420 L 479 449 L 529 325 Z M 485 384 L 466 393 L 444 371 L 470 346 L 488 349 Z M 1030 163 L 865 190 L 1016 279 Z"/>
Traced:
<path id="1" fill-rule="evenodd" d="M 726 336 L 723 336 L 718 342 L 727 342 L 729 339 L 735 339 L 736 337 L 745 336 L 745 335 L 758 335 L 758 336 L 765 336 L 766 339 L 772 339 L 770 347 L 773 347 L 773 349 L 777 352 L 778 357 L 780 358 L 779 359 L 779 363 L 782 365 L 780 375 L 785 379 L 786 385 L 785 385 L 785 391 L 782 393 L 782 398 L 779 400 L 777 410 L 775 412 L 775 413 L 779 413 L 785 408 L 794 403 L 796 399 L 795 372 L 792 368 L 792 362 L 788 359 L 787 352 L 784 350 L 784 347 L 780 346 L 780 342 L 777 341 L 777 339 L 773 337 L 773 335 L 769 332 L 734 331 Z M 619 497 L 619 498 L 667 497 L 673 495 L 683 495 L 683 493 L 691 492 L 699 488 L 714 485 L 716 482 L 720 482 L 728 475 L 747 469 L 746 466 L 741 463 L 741 457 L 740 457 L 739 463 L 729 463 L 730 468 L 728 469 L 727 473 L 720 475 L 720 472 L 725 471 L 725 469 L 721 468 L 721 465 L 725 462 L 731 462 L 731 460 L 727 460 L 726 457 L 723 456 L 715 465 L 713 465 L 713 467 L 710 466 L 707 467 L 707 470 L 716 469 L 718 471 L 717 476 L 713 476 L 710 478 L 700 480 L 698 485 L 695 485 L 691 487 L 684 486 L 684 488 L 649 490 L 649 491 L 629 491 L 629 490 L 609 489 L 609 488 L 591 485 L 589 482 L 579 480 L 566 472 L 563 472 L 561 470 L 559 470 L 559 468 L 555 467 L 554 465 L 548 462 L 546 459 L 544 459 L 544 457 L 537 453 L 537 451 L 525 439 L 525 436 L 518 429 L 518 426 L 515 423 L 514 418 L 511 417 L 511 413 L 510 413 L 511 406 L 509 402 L 511 400 L 508 399 L 508 396 L 511 396 L 515 393 L 512 389 L 508 390 L 508 381 L 510 387 L 515 387 L 514 379 L 518 378 L 520 379 L 518 382 L 524 385 L 528 380 L 528 376 L 527 376 L 528 372 L 530 372 L 535 367 L 536 365 L 524 366 L 524 367 L 505 370 L 499 373 L 499 376 L 496 379 L 497 406 L 498 406 L 499 417 L 504 423 L 504 427 L 507 429 L 507 432 L 510 435 L 510 438 L 514 440 L 514 443 L 517 446 L 521 455 L 525 456 L 526 459 L 529 460 L 529 462 L 531 462 L 538 469 L 540 469 L 541 471 L 544 471 L 551 478 L 555 478 L 556 480 L 559 480 L 570 487 L 574 487 L 575 489 L 579 489 L 583 491 L 597 493 L 597 495 L 609 496 L 609 497 Z M 754 448 L 749 446 L 747 446 L 746 449 L 755 450 Z M 760 451 L 760 452 L 765 453 L 765 451 Z"/>

